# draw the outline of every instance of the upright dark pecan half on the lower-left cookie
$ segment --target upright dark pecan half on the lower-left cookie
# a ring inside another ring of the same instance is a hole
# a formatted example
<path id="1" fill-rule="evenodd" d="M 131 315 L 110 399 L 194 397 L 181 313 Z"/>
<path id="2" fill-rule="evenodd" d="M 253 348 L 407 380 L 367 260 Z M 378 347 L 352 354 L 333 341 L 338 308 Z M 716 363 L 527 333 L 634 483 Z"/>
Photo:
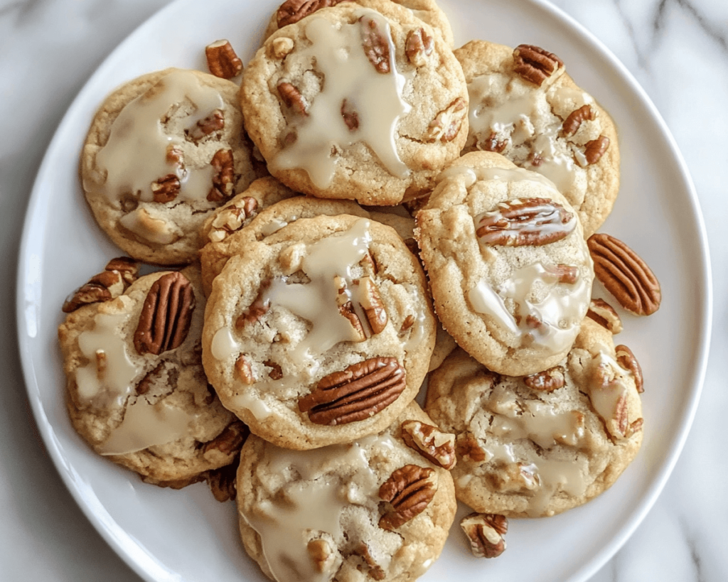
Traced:
<path id="1" fill-rule="evenodd" d="M 143 354 L 155 354 L 181 346 L 187 337 L 194 311 L 194 291 L 178 271 L 162 275 L 151 285 L 134 332 L 134 347 Z"/>

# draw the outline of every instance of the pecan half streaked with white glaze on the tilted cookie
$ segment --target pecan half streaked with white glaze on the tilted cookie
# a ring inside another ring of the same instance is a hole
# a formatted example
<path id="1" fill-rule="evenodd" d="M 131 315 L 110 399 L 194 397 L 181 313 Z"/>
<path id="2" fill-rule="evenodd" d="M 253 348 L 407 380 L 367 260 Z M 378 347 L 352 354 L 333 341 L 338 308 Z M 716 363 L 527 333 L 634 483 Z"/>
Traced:
<path id="1" fill-rule="evenodd" d="M 531 246 L 560 241 L 577 226 L 571 212 L 547 198 L 508 200 L 478 218 L 475 234 L 482 244 L 507 247 Z"/>

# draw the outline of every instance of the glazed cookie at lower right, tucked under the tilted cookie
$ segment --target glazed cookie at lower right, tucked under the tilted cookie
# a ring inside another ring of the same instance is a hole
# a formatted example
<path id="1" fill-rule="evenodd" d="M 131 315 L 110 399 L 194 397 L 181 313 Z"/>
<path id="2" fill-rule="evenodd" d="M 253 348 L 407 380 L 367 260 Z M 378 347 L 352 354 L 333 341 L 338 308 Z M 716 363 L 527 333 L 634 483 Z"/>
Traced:
<path id="1" fill-rule="evenodd" d="M 475 511 L 545 517 L 609 488 L 642 441 L 641 372 L 625 346 L 585 319 L 569 356 L 527 377 L 500 376 L 457 350 L 430 375 L 425 406 L 456 434 L 452 471 Z"/>

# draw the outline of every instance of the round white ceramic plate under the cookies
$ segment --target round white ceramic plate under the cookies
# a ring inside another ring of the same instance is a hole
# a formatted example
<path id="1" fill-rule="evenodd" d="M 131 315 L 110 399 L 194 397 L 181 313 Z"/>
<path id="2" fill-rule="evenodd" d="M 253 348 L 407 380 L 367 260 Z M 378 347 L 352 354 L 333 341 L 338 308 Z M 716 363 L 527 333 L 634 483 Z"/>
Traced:
<path id="1" fill-rule="evenodd" d="M 253 55 L 277 0 L 178 0 L 138 28 L 88 81 L 58 128 L 39 171 L 20 251 L 18 328 L 28 394 L 68 489 L 106 541 L 148 581 L 262 581 L 237 537 L 232 503 L 205 485 L 144 485 L 94 455 L 66 418 L 56 342 L 66 294 L 119 255 L 95 226 L 79 184 L 78 157 L 95 109 L 123 81 L 178 67 L 205 69 L 203 47 L 227 38 Z M 601 229 L 628 242 L 662 283 L 654 316 L 625 316 L 619 342 L 646 378 L 645 438 L 611 490 L 550 519 L 511 520 L 508 549 L 470 556 L 454 525 L 424 581 L 584 581 L 628 538 L 668 477 L 697 406 L 708 353 L 710 273 L 697 197 L 665 124 L 625 68 L 589 33 L 537 0 L 447 0 L 458 44 L 488 39 L 547 47 L 612 113 L 620 131 L 622 191 Z"/>

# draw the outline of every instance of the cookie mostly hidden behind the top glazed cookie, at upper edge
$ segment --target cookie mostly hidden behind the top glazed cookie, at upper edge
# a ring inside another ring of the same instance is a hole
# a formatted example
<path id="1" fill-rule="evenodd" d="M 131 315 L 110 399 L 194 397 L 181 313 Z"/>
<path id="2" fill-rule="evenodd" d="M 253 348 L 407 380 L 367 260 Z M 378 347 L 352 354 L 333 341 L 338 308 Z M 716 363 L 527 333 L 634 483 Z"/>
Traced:
<path id="1" fill-rule="evenodd" d="M 271 17 L 264 36 L 267 39 L 279 28 L 297 23 L 301 18 L 312 15 L 321 8 L 336 6 L 336 4 L 340 3 L 341 0 L 318 0 L 313 2 L 286 0 Z M 355 0 L 355 4 L 359 4 L 365 8 L 371 7 L 376 10 L 381 5 L 381 1 L 376 1 L 375 4 L 370 6 L 371 2 L 369 0 Z M 435 0 L 395 0 L 395 4 L 409 9 L 415 17 L 432 26 L 435 31 L 438 31 L 448 46 L 454 46 L 453 31 L 450 27 L 448 17 L 440 9 L 438 4 L 435 3 Z"/>

